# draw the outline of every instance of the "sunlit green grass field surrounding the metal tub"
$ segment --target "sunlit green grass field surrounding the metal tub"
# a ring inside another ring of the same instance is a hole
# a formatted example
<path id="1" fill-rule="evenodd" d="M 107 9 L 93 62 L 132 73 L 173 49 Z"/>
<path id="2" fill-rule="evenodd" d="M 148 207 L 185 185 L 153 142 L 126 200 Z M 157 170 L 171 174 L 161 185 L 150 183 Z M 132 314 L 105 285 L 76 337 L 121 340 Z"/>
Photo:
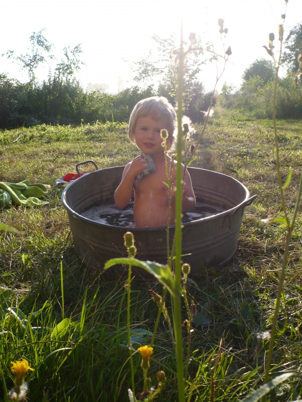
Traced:
<path id="1" fill-rule="evenodd" d="M 294 208 L 302 162 L 302 122 L 278 121 L 281 174 L 288 214 Z M 198 142 L 193 166 L 229 174 L 257 199 L 244 212 L 238 250 L 224 268 L 190 277 L 188 295 L 199 311 L 192 333 L 186 382 L 188 400 L 239 401 L 262 384 L 286 229 L 261 219 L 282 216 L 276 177 L 272 122 L 225 115 L 213 119 Z M 73 249 L 62 188 L 54 182 L 93 159 L 99 168 L 123 165 L 137 154 L 125 124 L 37 126 L 0 132 L 0 180 L 50 184 L 49 205 L 11 207 L 0 222 L 24 232 L 0 234 L 0 358 L 7 387 L 10 362 L 26 358 L 30 400 L 126 401 L 130 387 L 126 346 L 126 275 L 105 274 L 81 264 Z M 83 169 L 94 169 L 92 165 Z M 268 400 L 295 400 L 301 393 L 302 218 L 290 243 L 289 264 L 278 319 L 272 377 L 296 375 L 270 392 Z M 155 281 L 135 277 L 131 285 L 131 335 L 136 349 L 148 344 L 157 317 L 149 290 Z M 189 300 L 190 300 L 189 299 Z M 171 313 L 171 301 L 167 300 Z M 205 309 L 204 309 L 205 307 Z M 171 314 L 172 315 L 172 314 Z M 183 320 L 187 318 L 183 310 Z M 187 333 L 184 328 L 184 352 Z M 140 358 L 133 356 L 136 394 L 142 390 Z M 167 384 L 158 400 L 177 400 L 176 361 L 169 326 L 160 322 L 149 375 L 164 370 Z M 192 396 L 190 396 L 192 395 Z M 0 396 L 4 399 L 4 394 Z M 191 398 L 191 399 L 190 399 Z"/>

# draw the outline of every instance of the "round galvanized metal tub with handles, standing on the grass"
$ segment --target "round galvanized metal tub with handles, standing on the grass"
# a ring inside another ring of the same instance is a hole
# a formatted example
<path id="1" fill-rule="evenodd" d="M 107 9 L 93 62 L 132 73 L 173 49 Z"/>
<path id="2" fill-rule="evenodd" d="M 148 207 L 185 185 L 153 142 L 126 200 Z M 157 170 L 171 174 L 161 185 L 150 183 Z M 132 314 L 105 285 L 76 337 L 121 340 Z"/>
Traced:
<path id="1" fill-rule="evenodd" d="M 83 263 L 103 269 L 110 258 L 127 256 L 123 235 L 131 231 L 142 261 L 167 263 L 167 228 L 123 228 L 84 218 L 81 214 L 92 207 L 113 204 L 124 166 L 99 169 L 69 184 L 62 193 L 74 247 Z M 237 249 L 243 210 L 256 195 L 235 178 L 211 170 L 188 168 L 196 199 L 224 208 L 224 212 L 184 224 L 182 253 L 191 264 L 193 274 L 200 268 L 218 268 L 231 260 Z M 170 244 L 174 226 L 170 227 Z M 187 255 L 188 254 L 188 255 Z"/>

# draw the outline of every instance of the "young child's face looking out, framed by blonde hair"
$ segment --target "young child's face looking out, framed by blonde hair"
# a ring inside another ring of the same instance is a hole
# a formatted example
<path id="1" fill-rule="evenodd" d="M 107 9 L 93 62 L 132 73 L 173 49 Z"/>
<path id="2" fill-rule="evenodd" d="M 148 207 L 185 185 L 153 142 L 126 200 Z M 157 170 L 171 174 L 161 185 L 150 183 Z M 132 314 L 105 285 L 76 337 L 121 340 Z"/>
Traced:
<path id="1" fill-rule="evenodd" d="M 153 120 L 151 116 L 138 117 L 134 129 L 134 138 L 137 147 L 149 155 L 163 153 L 161 130 L 167 130 L 168 123 L 167 118 Z"/>

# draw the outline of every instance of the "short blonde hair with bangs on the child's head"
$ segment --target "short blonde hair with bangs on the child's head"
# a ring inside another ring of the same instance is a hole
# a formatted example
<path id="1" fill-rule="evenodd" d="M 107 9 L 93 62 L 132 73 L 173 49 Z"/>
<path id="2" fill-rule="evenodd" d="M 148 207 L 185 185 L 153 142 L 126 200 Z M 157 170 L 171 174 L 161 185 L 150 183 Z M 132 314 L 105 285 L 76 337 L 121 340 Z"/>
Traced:
<path id="1" fill-rule="evenodd" d="M 175 127 L 176 127 L 176 112 L 174 107 L 169 103 L 168 99 L 163 96 L 152 96 L 150 98 L 142 99 L 134 106 L 130 118 L 128 137 L 129 140 L 136 145 L 134 138 L 134 130 L 139 117 L 151 116 L 154 120 L 163 118 L 168 119 L 167 149 L 171 149 L 175 142 Z"/>

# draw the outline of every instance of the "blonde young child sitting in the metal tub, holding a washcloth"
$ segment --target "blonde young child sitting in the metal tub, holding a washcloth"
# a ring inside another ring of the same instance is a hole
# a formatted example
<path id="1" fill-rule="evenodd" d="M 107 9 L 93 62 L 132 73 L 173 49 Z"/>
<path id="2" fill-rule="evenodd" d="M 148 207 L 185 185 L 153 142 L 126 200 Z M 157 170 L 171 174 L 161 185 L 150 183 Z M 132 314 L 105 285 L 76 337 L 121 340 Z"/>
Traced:
<path id="1" fill-rule="evenodd" d="M 148 228 L 167 226 L 169 209 L 169 188 L 171 183 L 170 224 L 175 223 L 175 180 L 176 164 L 171 156 L 165 155 L 161 130 L 168 132 L 167 150 L 174 145 L 176 113 L 173 106 L 164 97 L 151 97 L 139 101 L 129 119 L 128 137 L 141 150 L 123 170 L 121 182 L 114 193 L 118 208 L 125 208 L 134 190 L 134 226 Z M 165 158 L 168 172 L 166 175 Z M 171 166 L 173 163 L 173 166 Z M 172 167 L 172 169 L 171 169 Z M 195 207 L 195 195 L 191 177 L 183 168 L 183 211 L 192 211 Z"/>

